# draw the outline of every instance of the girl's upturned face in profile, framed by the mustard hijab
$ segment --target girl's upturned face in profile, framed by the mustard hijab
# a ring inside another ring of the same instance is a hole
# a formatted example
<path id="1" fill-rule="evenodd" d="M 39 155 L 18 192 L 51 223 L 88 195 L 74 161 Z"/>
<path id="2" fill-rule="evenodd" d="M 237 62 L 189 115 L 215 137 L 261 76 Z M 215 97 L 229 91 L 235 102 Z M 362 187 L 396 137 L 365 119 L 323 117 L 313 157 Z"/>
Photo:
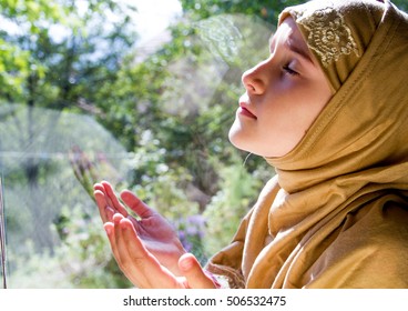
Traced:
<path id="1" fill-rule="evenodd" d="M 269 49 L 269 58 L 242 77 L 246 92 L 230 140 L 238 149 L 274 158 L 296 147 L 333 92 L 292 18 L 278 27 Z"/>

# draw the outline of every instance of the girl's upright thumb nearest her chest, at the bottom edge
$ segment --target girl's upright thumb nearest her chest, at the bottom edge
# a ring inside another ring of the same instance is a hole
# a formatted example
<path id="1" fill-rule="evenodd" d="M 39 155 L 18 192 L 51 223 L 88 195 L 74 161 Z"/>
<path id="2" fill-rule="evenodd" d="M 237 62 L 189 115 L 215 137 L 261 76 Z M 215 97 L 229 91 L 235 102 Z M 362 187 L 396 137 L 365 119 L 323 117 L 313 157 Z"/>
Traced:
<path id="1" fill-rule="evenodd" d="M 182 275 L 187 281 L 187 287 L 191 289 L 214 289 L 214 281 L 201 268 L 197 259 L 191 254 L 185 253 L 178 260 L 178 269 Z"/>

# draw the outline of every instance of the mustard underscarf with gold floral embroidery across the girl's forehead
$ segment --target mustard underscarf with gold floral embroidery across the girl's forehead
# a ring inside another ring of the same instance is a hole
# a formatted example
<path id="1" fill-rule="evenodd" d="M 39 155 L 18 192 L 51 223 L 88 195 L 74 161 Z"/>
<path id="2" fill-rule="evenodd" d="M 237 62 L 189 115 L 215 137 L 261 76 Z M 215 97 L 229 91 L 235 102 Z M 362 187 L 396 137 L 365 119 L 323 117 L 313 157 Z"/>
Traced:
<path id="1" fill-rule="evenodd" d="M 285 9 L 279 24 L 289 16 L 296 21 L 337 91 L 364 56 L 382 13 L 377 0 L 313 0 Z"/>

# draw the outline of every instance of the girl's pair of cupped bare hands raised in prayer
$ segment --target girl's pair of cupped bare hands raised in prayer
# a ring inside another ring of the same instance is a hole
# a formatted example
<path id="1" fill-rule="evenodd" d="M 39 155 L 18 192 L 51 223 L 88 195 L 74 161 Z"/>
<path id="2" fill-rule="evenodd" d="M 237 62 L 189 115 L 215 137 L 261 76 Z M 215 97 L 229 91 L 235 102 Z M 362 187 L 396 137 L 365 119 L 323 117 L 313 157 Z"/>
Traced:
<path id="1" fill-rule="evenodd" d="M 122 191 L 122 204 L 112 185 L 103 181 L 94 185 L 94 198 L 113 255 L 135 287 L 217 287 L 196 258 L 186 253 L 172 225 L 131 191 Z"/>

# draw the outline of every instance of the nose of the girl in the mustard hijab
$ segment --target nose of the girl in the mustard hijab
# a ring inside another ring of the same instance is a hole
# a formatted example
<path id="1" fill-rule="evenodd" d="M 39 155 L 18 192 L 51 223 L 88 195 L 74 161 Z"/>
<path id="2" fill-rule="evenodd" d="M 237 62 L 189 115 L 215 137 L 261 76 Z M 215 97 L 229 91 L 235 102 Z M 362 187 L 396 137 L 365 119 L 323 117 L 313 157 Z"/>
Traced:
<path id="1" fill-rule="evenodd" d="M 268 86 L 269 59 L 244 72 L 242 83 L 249 94 L 263 94 Z"/>

